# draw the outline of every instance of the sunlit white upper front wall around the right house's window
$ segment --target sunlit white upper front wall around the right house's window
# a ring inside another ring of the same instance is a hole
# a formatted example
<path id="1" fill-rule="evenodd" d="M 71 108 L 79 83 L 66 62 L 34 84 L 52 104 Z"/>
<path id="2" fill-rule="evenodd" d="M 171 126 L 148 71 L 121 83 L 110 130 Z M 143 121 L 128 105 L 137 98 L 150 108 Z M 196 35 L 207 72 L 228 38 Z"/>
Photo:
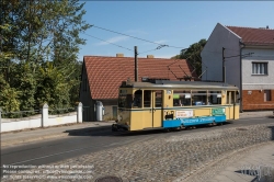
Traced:
<path id="1" fill-rule="evenodd" d="M 254 53 L 252 57 L 242 59 L 242 89 L 243 90 L 273 90 L 274 89 L 274 48 L 244 48 L 242 54 Z M 252 75 L 252 61 L 269 62 L 267 75 Z"/>

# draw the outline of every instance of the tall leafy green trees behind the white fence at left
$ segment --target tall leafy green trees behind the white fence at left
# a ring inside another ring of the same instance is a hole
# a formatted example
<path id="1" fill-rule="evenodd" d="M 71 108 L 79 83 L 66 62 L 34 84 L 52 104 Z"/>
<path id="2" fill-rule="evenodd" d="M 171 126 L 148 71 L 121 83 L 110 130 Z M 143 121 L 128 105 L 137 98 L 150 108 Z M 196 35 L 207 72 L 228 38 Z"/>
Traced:
<path id="1" fill-rule="evenodd" d="M 1 5 L 0 95 L 14 91 L 16 106 L 8 109 L 8 101 L 0 106 L 14 111 L 42 102 L 52 107 L 75 103 L 81 71 L 77 55 L 85 44 L 80 33 L 90 27 L 82 20 L 84 3 L 2 0 Z"/>

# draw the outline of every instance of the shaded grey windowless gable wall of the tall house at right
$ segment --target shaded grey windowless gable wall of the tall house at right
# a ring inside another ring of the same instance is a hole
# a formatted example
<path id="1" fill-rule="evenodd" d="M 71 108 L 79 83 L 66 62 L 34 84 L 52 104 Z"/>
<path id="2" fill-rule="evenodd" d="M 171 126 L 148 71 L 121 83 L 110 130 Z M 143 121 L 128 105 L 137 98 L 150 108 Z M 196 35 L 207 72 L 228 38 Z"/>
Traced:
<path id="1" fill-rule="evenodd" d="M 210 34 L 202 56 L 202 80 L 222 81 L 222 47 L 225 57 L 240 55 L 240 37 L 221 24 L 217 24 Z M 226 58 L 226 81 L 240 87 L 240 57 Z"/>

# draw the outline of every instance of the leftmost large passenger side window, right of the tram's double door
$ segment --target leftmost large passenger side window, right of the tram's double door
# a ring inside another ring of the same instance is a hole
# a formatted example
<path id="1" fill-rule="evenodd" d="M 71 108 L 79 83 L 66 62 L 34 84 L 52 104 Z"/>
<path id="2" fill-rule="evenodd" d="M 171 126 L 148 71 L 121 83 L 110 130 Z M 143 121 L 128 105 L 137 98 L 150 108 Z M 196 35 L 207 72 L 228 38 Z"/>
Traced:
<path id="1" fill-rule="evenodd" d="M 173 106 L 191 105 L 191 92 L 184 90 L 173 91 Z"/>

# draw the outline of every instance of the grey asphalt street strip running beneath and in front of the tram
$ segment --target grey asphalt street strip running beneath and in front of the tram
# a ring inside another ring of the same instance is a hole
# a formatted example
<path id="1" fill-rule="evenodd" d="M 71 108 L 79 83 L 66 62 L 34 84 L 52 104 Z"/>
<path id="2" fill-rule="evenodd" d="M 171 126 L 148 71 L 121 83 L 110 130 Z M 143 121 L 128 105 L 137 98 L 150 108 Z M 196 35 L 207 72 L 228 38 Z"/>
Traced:
<path id="1" fill-rule="evenodd" d="M 147 130 L 132 134 L 90 130 L 70 130 L 71 135 L 61 139 L 49 139 L 35 141 L 32 144 L 22 144 L 15 147 L 5 147 L 1 149 L 1 166 L 19 164 L 48 164 L 65 159 L 79 157 L 81 155 L 92 153 L 95 151 L 116 148 L 132 143 L 141 143 L 156 137 L 175 136 L 180 134 L 190 134 L 202 130 L 214 130 L 219 128 L 241 127 L 255 124 L 273 123 L 273 118 L 256 117 L 241 118 L 221 126 L 199 126 L 195 129 L 183 129 L 180 132 Z"/>

